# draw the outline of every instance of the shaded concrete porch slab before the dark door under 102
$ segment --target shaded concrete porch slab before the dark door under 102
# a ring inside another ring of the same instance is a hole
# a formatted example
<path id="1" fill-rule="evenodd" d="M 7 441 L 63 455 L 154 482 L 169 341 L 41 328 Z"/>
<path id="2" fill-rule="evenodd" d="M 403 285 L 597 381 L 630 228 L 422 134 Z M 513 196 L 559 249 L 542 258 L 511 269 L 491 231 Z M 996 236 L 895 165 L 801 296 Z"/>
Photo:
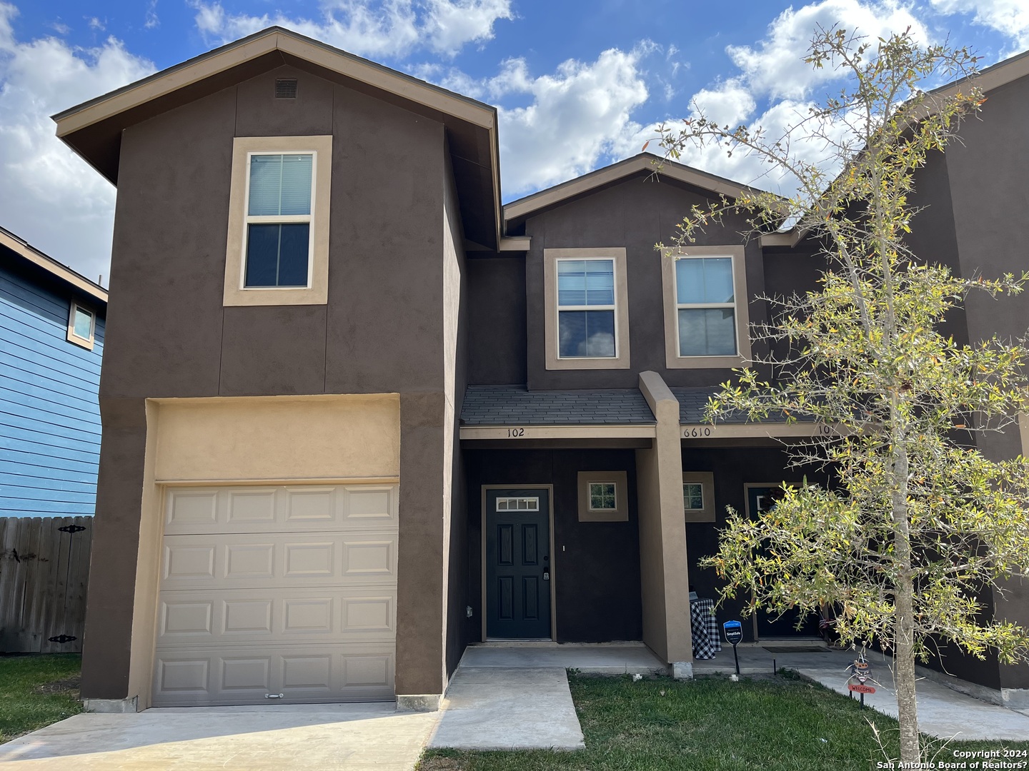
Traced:
<path id="1" fill-rule="evenodd" d="M 487 642 L 469 646 L 463 667 L 561 667 L 598 674 L 666 674 L 668 666 L 642 642 L 564 644 Z"/>

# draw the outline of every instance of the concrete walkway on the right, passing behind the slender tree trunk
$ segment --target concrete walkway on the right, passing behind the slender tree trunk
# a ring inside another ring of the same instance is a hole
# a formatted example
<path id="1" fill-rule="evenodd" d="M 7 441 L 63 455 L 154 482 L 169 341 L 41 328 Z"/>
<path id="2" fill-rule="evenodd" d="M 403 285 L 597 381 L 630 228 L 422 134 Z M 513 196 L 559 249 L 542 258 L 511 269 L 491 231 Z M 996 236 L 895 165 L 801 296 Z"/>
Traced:
<path id="1" fill-rule="evenodd" d="M 850 695 L 846 670 L 855 653 L 828 650 L 821 653 L 770 653 L 764 648 L 750 647 L 740 647 L 738 652 L 743 674 L 771 673 L 774 660 L 777 667 L 794 669 L 826 688 Z M 866 695 L 864 703 L 895 718 L 896 690 L 890 659 L 880 653 L 870 653 L 867 659 L 872 676 L 877 683 L 870 684 L 876 693 Z M 722 646 L 721 653 L 713 660 L 694 662 L 696 674 L 719 671 L 735 671 L 731 646 Z M 918 725 L 923 733 L 943 738 L 1029 741 L 1029 717 L 924 677 L 918 681 Z"/>

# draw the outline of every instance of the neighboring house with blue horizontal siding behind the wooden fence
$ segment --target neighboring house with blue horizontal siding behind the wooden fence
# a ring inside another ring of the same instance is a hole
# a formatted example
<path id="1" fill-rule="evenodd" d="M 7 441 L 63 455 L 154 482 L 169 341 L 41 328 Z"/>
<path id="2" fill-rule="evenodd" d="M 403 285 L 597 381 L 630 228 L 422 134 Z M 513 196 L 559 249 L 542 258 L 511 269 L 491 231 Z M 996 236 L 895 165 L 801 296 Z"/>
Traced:
<path id="1" fill-rule="evenodd" d="M 0 227 L 0 517 L 92 515 L 107 292 Z"/>

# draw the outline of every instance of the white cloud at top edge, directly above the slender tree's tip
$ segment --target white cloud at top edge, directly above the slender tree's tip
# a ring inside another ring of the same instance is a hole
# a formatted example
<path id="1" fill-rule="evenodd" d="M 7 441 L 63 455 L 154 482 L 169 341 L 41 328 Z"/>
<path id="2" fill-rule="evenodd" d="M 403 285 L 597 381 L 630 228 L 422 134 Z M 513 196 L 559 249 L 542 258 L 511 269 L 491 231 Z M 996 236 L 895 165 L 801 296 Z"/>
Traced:
<path id="1" fill-rule="evenodd" d="M 897 0 L 874 3 L 823 0 L 796 10 L 792 7 L 784 10 L 769 25 L 768 35 L 756 46 L 731 45 L 725 51 L 742 70 L 754 94 L 773 99 L 804 99 L 813 86 L 839 77 L 830 67 L 814 69 L 804 62 L 815 30 L 832 25 L 868 36 L 872 42 L 878 36 L 886 37 L 909 27 L 916 40 L 929 39 L 911 7 Z"/>

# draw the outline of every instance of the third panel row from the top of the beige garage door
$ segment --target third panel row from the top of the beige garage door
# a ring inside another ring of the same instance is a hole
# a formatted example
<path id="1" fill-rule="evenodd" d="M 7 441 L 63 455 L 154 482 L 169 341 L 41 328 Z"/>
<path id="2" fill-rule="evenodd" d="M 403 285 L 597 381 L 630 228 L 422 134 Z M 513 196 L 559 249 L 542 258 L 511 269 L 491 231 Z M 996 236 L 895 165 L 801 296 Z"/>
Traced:
<path id="1" fill-rule="evenodd" d="M 394 640 L 393 587 L 162 594 L 157 625 L 161 649 L 267 642 L 273 638 L 283 645 Z"/>

